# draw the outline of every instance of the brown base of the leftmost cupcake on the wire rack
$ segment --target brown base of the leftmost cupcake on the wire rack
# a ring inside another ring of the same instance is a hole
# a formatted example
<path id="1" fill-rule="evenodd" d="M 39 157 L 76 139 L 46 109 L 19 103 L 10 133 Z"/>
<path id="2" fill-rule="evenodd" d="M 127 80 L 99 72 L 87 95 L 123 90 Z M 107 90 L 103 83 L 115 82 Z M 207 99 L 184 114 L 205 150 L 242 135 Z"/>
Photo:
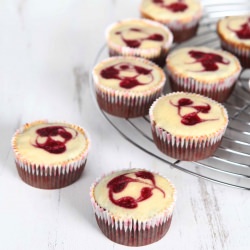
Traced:
<path id="1" fill-rule="evenodd" d="M 139 102 L 138 100 L 136 100 L 138 98 L 134 97 L 133 99 L 130 98 L 129 104 L 126 104 L 127 100 L 125 100 L 125 98 L 121 98 L 119 102 L 114 103 L 107 96 L 105 97 L 105 95 L 96 92 L 96 99 L 100 109 L 111 115 L 126 119 L 148 115 L 150 106 L 159 96 L 160 93 L 152 95 L 143 103 Z"/>

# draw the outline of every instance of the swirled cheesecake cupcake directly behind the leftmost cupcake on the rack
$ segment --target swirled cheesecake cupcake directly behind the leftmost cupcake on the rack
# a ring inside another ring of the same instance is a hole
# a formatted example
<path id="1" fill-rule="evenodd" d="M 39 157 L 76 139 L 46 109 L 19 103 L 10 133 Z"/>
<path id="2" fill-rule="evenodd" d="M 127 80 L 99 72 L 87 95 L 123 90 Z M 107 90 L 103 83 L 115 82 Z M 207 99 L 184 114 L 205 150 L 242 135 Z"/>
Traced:
<path id="1" fill-rule="evenodd" d="M 107 28 L 106 42 L 110 56 L 138 56 L 163 67 L 173 35 L 157 22 L 125 19 Z"/>

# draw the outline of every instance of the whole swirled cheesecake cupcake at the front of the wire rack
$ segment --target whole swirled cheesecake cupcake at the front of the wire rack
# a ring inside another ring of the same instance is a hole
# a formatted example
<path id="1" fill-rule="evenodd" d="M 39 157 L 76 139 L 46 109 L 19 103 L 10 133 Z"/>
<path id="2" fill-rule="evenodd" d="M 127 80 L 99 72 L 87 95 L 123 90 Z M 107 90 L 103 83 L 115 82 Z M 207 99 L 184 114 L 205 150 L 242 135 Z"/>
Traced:
<path id="1" fill-rule="evenodd" d="M 153 140 L 164 154 L 183 161 L 212 156 L 228 125 L 226 109 L 195 93 L 173 92 L 149 111 Z"/>

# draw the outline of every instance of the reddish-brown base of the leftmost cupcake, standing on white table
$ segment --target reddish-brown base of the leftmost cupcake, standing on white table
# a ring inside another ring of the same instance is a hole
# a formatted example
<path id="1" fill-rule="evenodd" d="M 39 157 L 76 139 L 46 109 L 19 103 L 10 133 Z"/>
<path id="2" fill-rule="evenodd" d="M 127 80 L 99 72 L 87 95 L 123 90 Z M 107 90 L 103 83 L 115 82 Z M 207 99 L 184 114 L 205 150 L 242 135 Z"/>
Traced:
<path id="1" fill-rule="evenodd" d="M 52 168 L 47 175 L 45 167 L 37 167 L 35 173 L 29 173 L 16 162 L 16 167 L 21 179 L 28 185 L 41 189 L 58 189 L 66 187 L 77 181 L 86 165 L 86 161 L 79 168 L 62 173 L 60 168 Z M 61 172 L 60 172 L 61 171 Z"/>

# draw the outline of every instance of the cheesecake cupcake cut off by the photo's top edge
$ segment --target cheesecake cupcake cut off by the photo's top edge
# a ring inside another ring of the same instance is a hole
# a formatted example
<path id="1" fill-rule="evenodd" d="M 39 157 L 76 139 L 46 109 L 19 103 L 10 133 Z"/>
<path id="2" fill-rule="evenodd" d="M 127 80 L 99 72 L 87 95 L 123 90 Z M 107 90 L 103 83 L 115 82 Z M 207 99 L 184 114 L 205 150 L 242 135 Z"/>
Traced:
<path id="1" fill-rule="evenodd" d="M 143 18 L 167 26 L 180 43 L 196 35 L 202 6 L 198 0 L 142 0 L 140 13 Z"/>

